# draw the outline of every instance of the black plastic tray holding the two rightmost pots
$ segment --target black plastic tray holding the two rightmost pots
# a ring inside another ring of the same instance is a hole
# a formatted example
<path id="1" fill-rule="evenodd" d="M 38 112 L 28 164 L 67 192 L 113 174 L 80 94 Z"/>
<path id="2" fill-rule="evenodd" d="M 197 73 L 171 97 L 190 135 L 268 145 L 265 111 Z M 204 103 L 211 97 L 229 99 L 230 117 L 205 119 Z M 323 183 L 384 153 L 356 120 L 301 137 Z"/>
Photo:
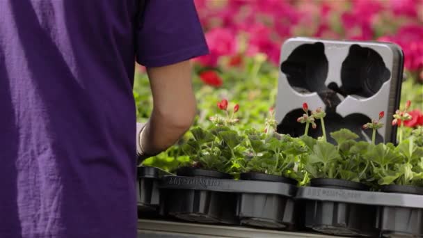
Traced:
<path id="1" fill-rule="evenodd" d="M 422 195 L 301 187 L 296 199 L 309 204 L 305 208 L 305 220 L 310 216 L 309 225 L 321 223 L 321 228 L 313 228 L 319 232 L 367 237 L 379 237 L 380 234 L 385 237 L 422 237 Z M 344 219 L 340 219 L 340 211 L 349 214 L 342 214 Z"/>

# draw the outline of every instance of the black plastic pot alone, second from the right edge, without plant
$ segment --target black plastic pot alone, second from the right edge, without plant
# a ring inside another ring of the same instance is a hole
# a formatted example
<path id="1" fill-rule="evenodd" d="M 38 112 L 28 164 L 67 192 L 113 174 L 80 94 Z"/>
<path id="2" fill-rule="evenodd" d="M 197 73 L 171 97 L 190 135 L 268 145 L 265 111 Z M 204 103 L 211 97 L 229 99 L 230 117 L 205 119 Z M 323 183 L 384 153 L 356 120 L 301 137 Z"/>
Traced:
<path id="1" fill-rule="evenodd" d="M 336 179 L 313 179 L 312 187 L 367 190 L 365 184 Z M 377 207 L 320 200 L 305 201 L 305 227 L 317 232 L 342 236 L 374 237 Z"/>

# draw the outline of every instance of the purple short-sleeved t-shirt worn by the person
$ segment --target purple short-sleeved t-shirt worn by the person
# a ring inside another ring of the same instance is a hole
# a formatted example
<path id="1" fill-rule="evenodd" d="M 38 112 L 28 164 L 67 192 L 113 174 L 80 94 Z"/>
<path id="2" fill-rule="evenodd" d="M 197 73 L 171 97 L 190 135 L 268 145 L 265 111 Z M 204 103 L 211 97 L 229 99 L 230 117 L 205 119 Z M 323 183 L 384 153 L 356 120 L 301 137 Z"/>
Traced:
<path id="1" fill-rule="evenodd" d="M 134 58 L 207 54 L 192 0 L 138 5 L 0 0 L 1 238 L 136 237 Z"/>

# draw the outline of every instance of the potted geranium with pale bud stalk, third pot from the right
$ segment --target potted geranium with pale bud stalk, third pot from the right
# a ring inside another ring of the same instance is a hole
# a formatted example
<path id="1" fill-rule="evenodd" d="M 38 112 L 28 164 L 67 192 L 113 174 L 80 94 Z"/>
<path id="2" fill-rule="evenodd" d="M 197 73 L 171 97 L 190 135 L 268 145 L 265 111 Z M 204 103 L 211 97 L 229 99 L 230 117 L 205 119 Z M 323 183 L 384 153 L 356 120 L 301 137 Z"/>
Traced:
<path id="1" fill-rule="evenodd" d="M 240 180 L 284 183 L 296 188 L 302 176 L 295 169 L 298 156 L 307 152 L 298 138 L 275 132 L 273 110 L 269 110 L 264 132 L 248 129 L 246 134 L 246 159 Z M 264 184 L 263 186 L 266 186 Z M 295 221 L 292 197 L 269 193 L 240 193 L 237 216 L 241 224 L 262 228 L 285 228 Z"/>

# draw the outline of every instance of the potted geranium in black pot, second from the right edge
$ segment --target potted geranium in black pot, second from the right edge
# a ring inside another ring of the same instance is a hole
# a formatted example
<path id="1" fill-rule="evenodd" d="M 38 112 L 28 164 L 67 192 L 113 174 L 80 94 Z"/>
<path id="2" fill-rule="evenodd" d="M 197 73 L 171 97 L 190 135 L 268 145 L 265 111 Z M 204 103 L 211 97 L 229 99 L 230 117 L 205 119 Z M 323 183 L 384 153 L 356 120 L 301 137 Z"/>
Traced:
<path id="1" fill-rule="evenodd" d="M 318 139 L 307 135 L 301 137 L 309 153 L 303 159 L 310 177 L 310 186 L 329 189 L 368 190 L 363 182 L 371 180 L 369 161 L 362 156 L 369 143 L 356 141 L 358 135 L 348 129 L 330 133 L 336 145 L 326 141 L 324 117 L 326 113 L 317 109 L 305 123 L 321 120 L 322 135 Z M 311 117 L 311 118 L 310 118 Z M 380 113 L 379 120 L 383 117 Z M 304 122 L 299 118 L 298 122 Z M 378 120 L 374 123 L 379 123 Z M 380 126 L 380 123 L 378 124 Z M 376 208 L 368 205 L 337 203 L 320 200 L 305 200 L 305 227 L 333 235 L 376 234 Z"/>

